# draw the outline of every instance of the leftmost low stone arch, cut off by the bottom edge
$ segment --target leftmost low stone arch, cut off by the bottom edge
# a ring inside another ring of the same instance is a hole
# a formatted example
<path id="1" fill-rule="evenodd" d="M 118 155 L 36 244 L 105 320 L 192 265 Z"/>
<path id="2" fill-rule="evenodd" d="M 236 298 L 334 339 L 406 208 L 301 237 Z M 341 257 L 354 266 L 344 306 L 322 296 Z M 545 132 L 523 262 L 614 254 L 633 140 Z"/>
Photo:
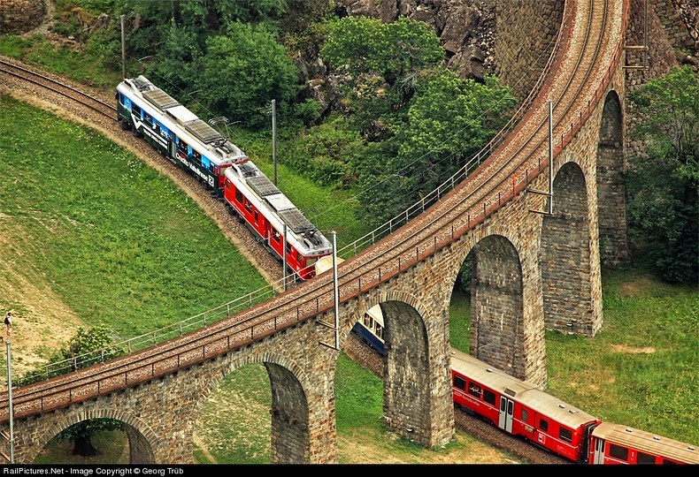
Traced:
<path id="1" fill-rule="evenodd" d="M 36 443 L 27 450 L 27 463 L 34 462 L 39 452 L 50 443 L 62 431 L 71 426 L 89 419 L 114 419 L 125 424 L 125 430 L 129 443 L 130 464 L 155 464 L 156 458 L 153 452 L 153 443 L 157 443 L 157 435 L 152 428 L 140 418 L 130 413 L 123 413 L 115 408 L 95 408 L 88 412 L 67 413 L 62 419 L 54 421 L 39 435 Z"/>

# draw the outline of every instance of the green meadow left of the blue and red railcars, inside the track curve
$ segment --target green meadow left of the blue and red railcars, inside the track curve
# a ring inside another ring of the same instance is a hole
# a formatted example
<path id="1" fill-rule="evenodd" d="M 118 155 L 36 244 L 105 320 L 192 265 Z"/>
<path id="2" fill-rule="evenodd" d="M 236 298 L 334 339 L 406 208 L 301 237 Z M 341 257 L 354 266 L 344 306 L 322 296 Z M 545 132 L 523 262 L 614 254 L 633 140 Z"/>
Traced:
<path id="1" fill-rule="evenodd" d="M 0 137 L 13 266 L 85 324 L 133 337 L 265 286 L 194 201 L 94 131 L 0 97 Z"/>

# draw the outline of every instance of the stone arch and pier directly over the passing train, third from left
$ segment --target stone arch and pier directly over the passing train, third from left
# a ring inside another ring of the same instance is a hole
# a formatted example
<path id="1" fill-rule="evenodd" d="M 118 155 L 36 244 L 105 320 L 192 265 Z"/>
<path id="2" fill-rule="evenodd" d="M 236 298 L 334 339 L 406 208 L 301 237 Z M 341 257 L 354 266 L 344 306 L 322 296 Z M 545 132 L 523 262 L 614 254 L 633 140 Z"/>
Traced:
<path id="1" fill-rule="evenodd" d="M 448 322 L 442 310 L 426 307 L 417 294 L 388 287 L 357 300 L 343 330 L 350 334 L 357 320 L 376 306 L 386 348 L 376 367 L 383 383 L 384 424 L 426 447 L 448 443 L 454 435 L 454 416 Z M 344 342 L 348 339 L 349 335 Z"/>

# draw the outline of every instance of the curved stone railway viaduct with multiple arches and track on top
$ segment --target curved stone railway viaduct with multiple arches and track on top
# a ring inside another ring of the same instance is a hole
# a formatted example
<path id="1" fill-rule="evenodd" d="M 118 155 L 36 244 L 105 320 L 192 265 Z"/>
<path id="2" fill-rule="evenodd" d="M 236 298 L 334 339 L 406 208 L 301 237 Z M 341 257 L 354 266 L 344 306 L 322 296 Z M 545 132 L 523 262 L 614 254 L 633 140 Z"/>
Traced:
<path id="1" fill-rule="evenodd" d="M 449 299 L 469 255 L 472 354 L 545 387 L 544 330 L 594 336 L 601 250 L 626 259 L 629 0 L 553 4 L 560 27 L 541 82 L 511 130 L 448 192 L 435 191 L 438 200 L 406 212 L 382 239 L 345 251 L 336 281 L 328 271 L 180 337 L 12 390 L 14 461 L 33 462 L 81 420 L 111 418 L 126 424 L 132 463 L 193 463 L 200 406 L 224 376 L 257 362 L 272 389 L 272 461 L 335 463 L 336 360 L 376 304 L 386 322 L 386 424 L 425 446 L 449 443 Z M 8 394 L 0 400 L 9 435 Z"/>

